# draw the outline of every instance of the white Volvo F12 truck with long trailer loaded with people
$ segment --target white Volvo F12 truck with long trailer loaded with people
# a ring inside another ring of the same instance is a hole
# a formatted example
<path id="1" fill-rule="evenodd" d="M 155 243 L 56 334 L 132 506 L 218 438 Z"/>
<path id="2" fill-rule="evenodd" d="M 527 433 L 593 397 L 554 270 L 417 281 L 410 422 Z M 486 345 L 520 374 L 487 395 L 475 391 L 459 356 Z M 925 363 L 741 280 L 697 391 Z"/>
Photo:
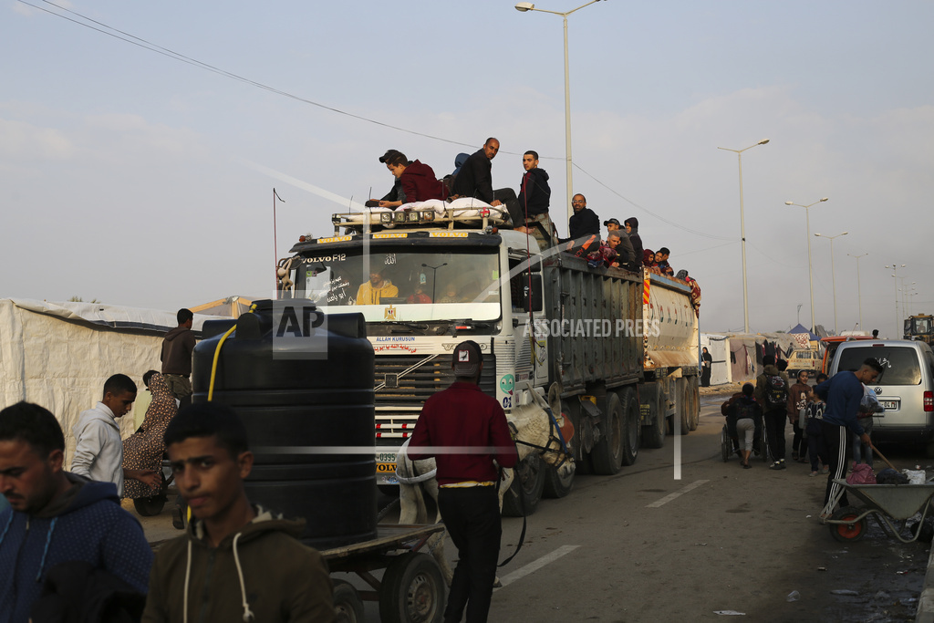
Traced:
<path id="1" fill-rule="evenodd" d="M 417 207 L 335 214 L 333 235 L 302 236 L 278 267 L 280 298 L 366 319 L 381 488 L 395 486 L 396 451 L 453 380 L 451 351 L 465 339 L 482 348 L 480 386 L 507 414 L 530 391 L 545 398 L 584 473 L 616 474 L 666 430 L 697 428 L 698 316 L 685 282 L 542 251 L 502 228 L 497 208 Z M 573 484 L 537 455 L 517 473 L 506 513 Z"/>

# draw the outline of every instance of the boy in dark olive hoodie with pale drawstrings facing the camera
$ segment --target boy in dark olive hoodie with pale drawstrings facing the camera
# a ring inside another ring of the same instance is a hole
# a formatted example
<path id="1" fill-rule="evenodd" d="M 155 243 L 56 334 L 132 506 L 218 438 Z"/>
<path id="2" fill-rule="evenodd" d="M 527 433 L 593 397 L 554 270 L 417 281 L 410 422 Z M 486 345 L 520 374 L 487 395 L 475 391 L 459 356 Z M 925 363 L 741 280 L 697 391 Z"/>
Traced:
<path id="1" fill-rule="evenodd" d="M 304 519 L 253 505 L 247 429 L 229 406 L 191 404 L 165 430 L 188 533 L 163 545 L 149 575 L 143 621 L 334 620 L 333 588 L 317 550 L 296 539 Z"/>

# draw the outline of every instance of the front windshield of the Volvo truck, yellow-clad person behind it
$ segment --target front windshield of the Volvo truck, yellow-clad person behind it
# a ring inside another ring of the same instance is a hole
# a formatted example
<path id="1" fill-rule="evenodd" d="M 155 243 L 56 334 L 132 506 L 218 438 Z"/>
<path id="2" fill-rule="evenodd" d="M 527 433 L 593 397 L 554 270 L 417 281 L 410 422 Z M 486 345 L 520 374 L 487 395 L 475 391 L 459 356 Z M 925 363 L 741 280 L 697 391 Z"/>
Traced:
<path id="1" fill-rule="evenodd" d="M 361 312 L 367 322 L 496 320 L 496 249 L 346 248 L 292 262 L 294 293 L 323 311 Z"/>

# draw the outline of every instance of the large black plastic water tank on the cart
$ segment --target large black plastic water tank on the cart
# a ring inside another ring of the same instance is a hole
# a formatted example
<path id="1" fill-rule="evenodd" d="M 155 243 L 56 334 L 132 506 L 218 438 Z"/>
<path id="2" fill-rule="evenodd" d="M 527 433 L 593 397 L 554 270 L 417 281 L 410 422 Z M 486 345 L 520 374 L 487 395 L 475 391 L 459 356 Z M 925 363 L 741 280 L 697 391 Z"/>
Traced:
<path id="1" fill-rule="evenodd" d="M 192 402 L 207 401 L 214 354 L 233 324 L 205 322 Z M 319 549 L 374 539 L 375 453 L 337 447 L 374 446 L 374 355 L 363 316 L 325 316 L 307 300 L 260 301 L 235 324 L 220 347 L 212 400 L 247 426 L 256 455 L 250 501 L 304 517 L 302 538 Z"/>

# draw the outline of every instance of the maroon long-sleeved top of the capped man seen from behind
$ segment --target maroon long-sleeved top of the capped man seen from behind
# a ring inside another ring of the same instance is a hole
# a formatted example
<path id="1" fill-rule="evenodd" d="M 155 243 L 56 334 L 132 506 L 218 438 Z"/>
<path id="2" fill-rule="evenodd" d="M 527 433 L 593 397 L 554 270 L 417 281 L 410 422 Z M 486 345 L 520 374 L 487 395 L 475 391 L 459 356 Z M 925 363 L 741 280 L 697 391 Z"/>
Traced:
<path id="1" fill-rule="evenodd" d="M 474 446 L 476 454 L 431 452 L 418 454 L 419 446 Z M 495 481 L 499 474 L 493 465 L 516 465 L 518 455 L 502 406 L 474 383 L 456 382 L 425 401 L 415 432 L 409 441 L 408 456 L 412 460 L 435 457 L 438 464 L 438 484 L 475 480 Z"/>

